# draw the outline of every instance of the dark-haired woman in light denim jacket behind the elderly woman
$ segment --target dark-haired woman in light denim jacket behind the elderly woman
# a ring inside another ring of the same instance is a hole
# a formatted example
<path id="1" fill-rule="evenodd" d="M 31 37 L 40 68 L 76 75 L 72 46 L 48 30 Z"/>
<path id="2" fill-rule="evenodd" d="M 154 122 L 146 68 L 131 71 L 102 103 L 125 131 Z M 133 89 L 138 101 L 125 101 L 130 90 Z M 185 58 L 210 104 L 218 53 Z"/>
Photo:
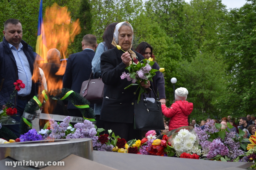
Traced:
<path id="1" fill-rule="evenodd" d="M 95 55 L 92 59 L 93 78 L 99 78 L 101 76 L 100 55 L 104 51 L 114 48 L 114 46 L 111 43 L 113 40 L 113 35 L 114 35 L 114 30 L 115 30 L 116 24 L 118 24 L 118 22 L 111 23 L 107 26 L 107 28 L 104 31 L 103 36 L 102 36 L 103 42 L 101 42 L 96 49 Z M 104 128 L 104 122 L 100 120 L 101 105 L 102 105 L 102 103 L 94 104 L 94 114 L 96 116 L 96 121 L 97 121 L 96 126 L 98 128 Z M 104 132 L 102 132 L 102 133 L 104 133 Z"/>

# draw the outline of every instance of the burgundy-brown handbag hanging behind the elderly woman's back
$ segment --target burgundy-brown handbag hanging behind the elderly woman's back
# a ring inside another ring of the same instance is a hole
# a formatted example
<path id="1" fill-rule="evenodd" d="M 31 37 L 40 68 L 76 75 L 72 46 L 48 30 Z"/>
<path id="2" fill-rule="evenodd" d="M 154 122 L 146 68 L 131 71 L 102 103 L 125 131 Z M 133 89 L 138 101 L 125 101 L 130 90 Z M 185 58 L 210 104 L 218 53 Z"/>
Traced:
<path id="1" fill-rule="evenodd" d="M 93 74 L 89 80 L 86 80 L 82 83 L 80 94 L 91 104 L 102 103 L 103 101 L 103 92 L 104 92 L 104 83 L 102 78 L 93 78 Z"/>

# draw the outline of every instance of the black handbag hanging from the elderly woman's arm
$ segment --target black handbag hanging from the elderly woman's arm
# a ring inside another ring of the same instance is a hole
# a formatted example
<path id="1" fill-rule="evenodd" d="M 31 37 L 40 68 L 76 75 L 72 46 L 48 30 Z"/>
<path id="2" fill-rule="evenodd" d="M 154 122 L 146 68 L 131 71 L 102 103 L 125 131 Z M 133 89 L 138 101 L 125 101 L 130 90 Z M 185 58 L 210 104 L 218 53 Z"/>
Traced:
<path id="1" fill-rule="evenodd" d="M 143 100 L 134 106 L 134 129 L 141 130 L 163 130 L 164 121 L 161 102 L 157 98 L 156 92 L 152 89 L 155 94 L 155 103 L 148 101 L 143 93 Z"/>

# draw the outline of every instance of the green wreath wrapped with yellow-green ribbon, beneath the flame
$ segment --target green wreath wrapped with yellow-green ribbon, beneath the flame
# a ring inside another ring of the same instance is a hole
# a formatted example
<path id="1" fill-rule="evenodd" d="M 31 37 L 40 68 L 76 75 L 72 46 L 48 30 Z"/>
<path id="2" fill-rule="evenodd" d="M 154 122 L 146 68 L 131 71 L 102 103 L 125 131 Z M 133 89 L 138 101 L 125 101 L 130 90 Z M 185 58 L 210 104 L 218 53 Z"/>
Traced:
<path id="1" fill-rule="evenodd" d="M 47 98 L 53 100 L 63 100 L 63 101 L 71 101 L 81 112 L 84 119 L 94 119 L 95 115 L 93 113 L 92 108 L 79 108 L 81 105 L 90 105 L 90 102 L 87 99 L 84 99 L 77 92 L 70 92 L 71 90 L 68 88 L 52 90 L 51 92 L 44 91 L 38 96 L 34 96 L 34 98 L 30 99 L 28 104 L 25 107 L 24 112 L 29 113 L 31 115 L 36 115 L 36 111 L 41 107 L 40 104 L 46 102 Z M 70 93 L 67 95 L 67 93 Z M 39 107 L 40 106 L 40 107 Z M 28 130 L 31 129 L 30 125 L 32 120 L 20 118 L 20 134 L 27 133 Z"/>

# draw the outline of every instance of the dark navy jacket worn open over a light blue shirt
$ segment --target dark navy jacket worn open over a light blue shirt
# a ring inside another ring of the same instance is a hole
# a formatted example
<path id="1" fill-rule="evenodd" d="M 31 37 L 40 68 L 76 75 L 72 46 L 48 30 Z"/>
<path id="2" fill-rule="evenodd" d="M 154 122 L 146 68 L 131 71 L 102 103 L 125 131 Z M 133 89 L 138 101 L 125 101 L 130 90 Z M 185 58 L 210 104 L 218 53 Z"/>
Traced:
<path id="1" fill-rule="evenodd" d="M 23 52 L 28 58 L 28 63 L 30 66 L 30 71 L 33 75 L 34 70 L 34 56 L 32 49 L 28 48 L 28 44 L 25 41 L 21 41 L 23 45 Z M 37 94 L 38 88 L 42 85 L 42 78 L 39 73 L 39 69 L 36 64 L 35 74 L 38 77 L 38 81 L 35 84 L 33 81 L 32 89 L 30 92 L 30 97 L 32 98 Z M 3 38 L 3 41 L 0 42 L 0 110 L 2 110 L 2 106 L 6 104 L 9 100 L 11 93 L 14 90 L 13 83 L 19 79 L 18 77 L 18 68 L 16 65 L 16 61 L 14 55 L 12 54 L 12 50 L 9 47 L 8 42 Z M 43 90 L 43 89 L 40 89 Z M 17 93 L 16 96 L 11 101 L 14 103 L 14 107 L 17 105 Z"/>

